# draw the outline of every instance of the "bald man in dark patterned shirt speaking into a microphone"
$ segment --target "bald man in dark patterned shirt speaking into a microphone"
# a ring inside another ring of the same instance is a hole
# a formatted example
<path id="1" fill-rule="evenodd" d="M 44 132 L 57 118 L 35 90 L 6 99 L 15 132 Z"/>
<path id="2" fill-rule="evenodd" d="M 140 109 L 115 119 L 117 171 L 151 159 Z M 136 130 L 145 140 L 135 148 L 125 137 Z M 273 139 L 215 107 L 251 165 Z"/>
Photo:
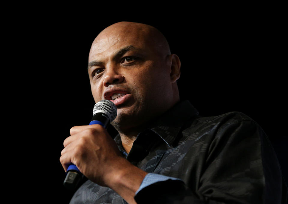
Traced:
<path id="1" fill-rule="evenodd" d="M 71 128 L 60 162 L 89 179 L 71 203 L 281 202 L 280 167 L 262 129 L 241 113 L 199 117 L 180 102 L 180 60 L 157 29 L 107 27 L 92 43 L 88 74 L 95 102 L 116 104 L 119 135 Z"/>

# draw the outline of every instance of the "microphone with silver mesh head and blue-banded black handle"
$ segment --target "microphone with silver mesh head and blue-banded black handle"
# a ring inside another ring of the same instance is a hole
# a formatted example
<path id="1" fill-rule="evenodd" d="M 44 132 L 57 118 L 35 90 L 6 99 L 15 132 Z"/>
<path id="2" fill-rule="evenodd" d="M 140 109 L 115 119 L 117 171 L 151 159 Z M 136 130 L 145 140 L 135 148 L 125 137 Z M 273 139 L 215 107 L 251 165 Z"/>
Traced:
<path id="1" fill-rule="evenodd" d="M 89 125 L 100 124 L 105 129 L 110 122 L 112 122 L 117 116 L 116 105 L 109 100 L 102 100 L 95 104 L 93 108 L 93 117 Z M 63 185 L 73 190 L 78 185 L 79 181 L 82 179 L 83 175 L 80 173 L 76 165 L 71 164 L 66 171 L 66 178 Z"/>

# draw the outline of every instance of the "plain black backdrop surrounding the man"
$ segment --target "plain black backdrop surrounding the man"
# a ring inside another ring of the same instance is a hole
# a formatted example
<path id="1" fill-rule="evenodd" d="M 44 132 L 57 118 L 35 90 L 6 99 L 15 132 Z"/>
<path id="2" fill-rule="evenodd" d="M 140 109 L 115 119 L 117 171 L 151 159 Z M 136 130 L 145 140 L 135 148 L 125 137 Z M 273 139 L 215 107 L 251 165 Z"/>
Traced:
<path id="1" fill-rule="evenodd" d="M 16 97 L 16 106 L 25 106 L 25 117 L 17 116 L 24 125 L 13 137 L 20 148 L 12 163 L 28 169 L 21 185 L 27 199 L 67 203 L 71 198 L 73 193 L 62 185 L 63 141 L 71 127 L 91 119 L 95 102 L 87 73 L 89 49 L 99 32 L 119 21 L 158 28 L 182 63 L 181 99 L 190 100 L 203 116 L 230 111 L 250 116 L 270 138 L 287 178 L 287 64 L 281 11 L 269 5 L 204 5 L 191 10 L 171 5 L 170 10 L 133 12 L 86 9 L 93 15 L 38 9 L 7 24 L 15 87 L 10 94 Z"/>

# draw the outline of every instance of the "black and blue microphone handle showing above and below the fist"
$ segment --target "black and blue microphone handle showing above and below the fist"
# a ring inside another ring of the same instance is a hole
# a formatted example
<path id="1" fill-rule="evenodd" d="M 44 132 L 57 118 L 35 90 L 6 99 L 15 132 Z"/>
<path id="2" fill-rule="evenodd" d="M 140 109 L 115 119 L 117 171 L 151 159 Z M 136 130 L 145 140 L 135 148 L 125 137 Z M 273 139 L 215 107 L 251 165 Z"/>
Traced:
<path id="1" fill-rule="evenodd" d="M 107 129 L 107 126 L 109 123 L 110 123 L 110 118 L 106 114 L 98 112 L 95 115 L 93 115 L 89 125 L 99 124 L 103 126 L 105 129 Z M 83 174 L 79 171 L 76 165 L 71 164 L 67 168 L 66 178 L 63 182 L 63 185 L 69 190 L 74 190 L 82 178 L 83 178 Z"/>

